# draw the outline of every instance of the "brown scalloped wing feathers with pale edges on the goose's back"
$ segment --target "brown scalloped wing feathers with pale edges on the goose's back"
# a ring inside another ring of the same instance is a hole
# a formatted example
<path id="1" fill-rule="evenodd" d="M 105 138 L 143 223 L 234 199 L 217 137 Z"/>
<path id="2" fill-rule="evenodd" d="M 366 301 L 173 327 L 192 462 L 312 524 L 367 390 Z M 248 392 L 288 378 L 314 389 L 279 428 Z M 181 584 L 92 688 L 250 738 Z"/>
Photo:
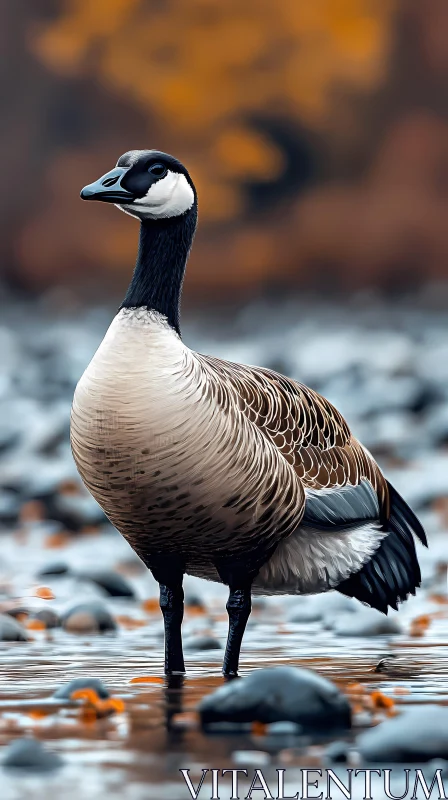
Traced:
<path id="1" fill-rule="evenodd" d="M 367 479 L 378 494 L 383 519 L 387 519 L 386 480 L 328 400 L 269 369 L 210 356 L 199 358 L 204 367 L 226 379 L 241 410 L 275 443 L 305 488 L 331 489 Z"/>

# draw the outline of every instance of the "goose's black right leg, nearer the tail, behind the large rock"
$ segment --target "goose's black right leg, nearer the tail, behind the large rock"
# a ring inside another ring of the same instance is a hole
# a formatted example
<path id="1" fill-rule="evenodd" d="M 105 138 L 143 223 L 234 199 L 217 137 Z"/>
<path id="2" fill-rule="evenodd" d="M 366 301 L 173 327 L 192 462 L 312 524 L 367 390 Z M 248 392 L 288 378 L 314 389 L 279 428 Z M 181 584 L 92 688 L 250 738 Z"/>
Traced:
<path id="1" fill-rule="evenodd" d="M 229 586 L 229 599 L 226 605 L 229 633 L 222 672 L 226 677 L 235 677 L 238 675 L 241 642 L 252 610 L 251 586 L 255 575 L 248 575 L 247 570 L 240 565 L 232 567 L 217 564 L 216 568 L 222 582 Z"/>

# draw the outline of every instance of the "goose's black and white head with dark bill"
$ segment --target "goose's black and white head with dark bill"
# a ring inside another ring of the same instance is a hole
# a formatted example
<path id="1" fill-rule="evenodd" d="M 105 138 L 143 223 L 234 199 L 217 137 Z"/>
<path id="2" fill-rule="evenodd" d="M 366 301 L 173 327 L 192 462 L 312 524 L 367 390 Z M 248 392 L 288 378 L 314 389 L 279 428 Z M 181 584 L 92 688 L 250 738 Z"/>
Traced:
<path id="1" fill-rule="evenodd" d="M 196 206 L 187 169 L 159 150 L 130 150 L 116 167 L 84 186 L 83 200 L 114 203 L 141 222 L 181 217 Z"/>

